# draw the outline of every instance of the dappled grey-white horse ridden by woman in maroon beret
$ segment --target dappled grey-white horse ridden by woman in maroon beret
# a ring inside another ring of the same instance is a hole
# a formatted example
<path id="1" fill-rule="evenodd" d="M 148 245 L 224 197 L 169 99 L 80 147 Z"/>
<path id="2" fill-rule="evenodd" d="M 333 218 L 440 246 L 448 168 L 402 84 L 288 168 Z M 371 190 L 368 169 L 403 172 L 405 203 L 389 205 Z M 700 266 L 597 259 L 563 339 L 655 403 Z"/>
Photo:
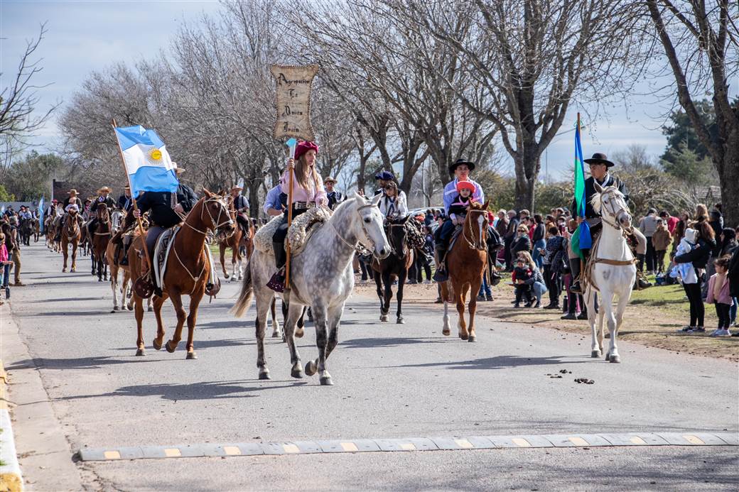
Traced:
<path id="1" fill-rule="evenodd" d="M 378 208 L 380 196 L 369 200 L 360 194 L 347 199 L 333 215 L 313 233 L 303 250 L 290 259 L 290 290 L 283 300 L 288 303 L 285 339 L 293 364 L 290 375 L 303 377 L 300 355 L 295 346 L 295 329 L 304 306 L 313 310 L 316 346 L 319 358 L 305 365 L 309 376 L 320 373 L 322 385 L 333 384 L 326 369 L 326 359 L 338 344 L 338 324 L 344 312 L 344 302 L 354 288 L 352 260 L 357 245 L 373 245 L 373 253 L 386 258 L 390 245 L 385 236 L 383 216 Z M 274 256 L 255 248 L 245 271 L 239 299 L 232 312 L 244 314 L 256 295 L 256 366 L 259 379 L 270 379 L 265 361 L 265 325 L 274 293 L 267 287 L 276 272 Z M 302 336 L 302 334 L 299 334 Z"/>

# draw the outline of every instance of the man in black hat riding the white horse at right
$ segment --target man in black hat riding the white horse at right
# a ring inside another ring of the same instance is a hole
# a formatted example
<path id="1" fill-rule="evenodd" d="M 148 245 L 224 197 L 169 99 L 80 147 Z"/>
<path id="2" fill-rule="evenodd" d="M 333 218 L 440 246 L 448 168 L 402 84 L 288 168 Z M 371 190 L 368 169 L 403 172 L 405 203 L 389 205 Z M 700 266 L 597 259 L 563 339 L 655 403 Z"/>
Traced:
<path id="1" fill-rule="evenodd" d="M 618 189 L 621 194 L 624 195 L 624 201 L 627 203 L 629 201 L 629 191 L 623 181 L 619 180 L 618 177 L 613 176 L 613 174 L 610 174 L 610 172 L 608 171 L 615 164 L 608 160 L 605 154 L 602 154 L 601 152 L 596 152 L 595 154 L 593 154 L 593 157 L 590 157 L 590 159 L 585 159 L 585 163 L 590 165 L 590 177 L 585 180 L 585 217 L 578 216 L 577 202 L 574 199 L 572 201 L 571 209 L 572 216 L 577 217 L 578 224 L 584 220 L 588 221 L 588 225 L 590 225 L 590 231 L 593 236 L 595 236 L 596 234 L 600 233 L 600 230 L 603 227 L 601 216 L 593 209 L 593 205 L 590 205 L 590 200 L 593 198 L 593 195 L 596 194 L 595 182 L 597 181 L 598 184 L 601 185 L 603 188 L 606 188 L 607 186 L 616 187 L 616 189 Z M 630 230 L 629 232 L 636 238 L 636 258 L 638 259 L 639 263 L 642 264 L 644 263 L 644 255 L 647 253 L 647 238 L 644 237 L 644 234 L 642 234 L 641 231 L 637 228 L 632 228 L 632 230 Z M 587 261 L 590 250 L 581 249 L 581 251 Z M 573 293 L 581 294 L 583 290 L 582 286 L 580 285 L 580 271 L 582 270 L 580 257 L 573 252 L 571 247 L 568 248 L 568 253 L 570 256 L 572 278 L 575 279 L 574 283 L 570 287 L 570 290 Z M 637 269 L 635 285 L 636 289 L 641 290 L 647 287 L 651 287 L 652 284 L 638 275 L 639 270 L 641 270 L 641 267 Z"/>

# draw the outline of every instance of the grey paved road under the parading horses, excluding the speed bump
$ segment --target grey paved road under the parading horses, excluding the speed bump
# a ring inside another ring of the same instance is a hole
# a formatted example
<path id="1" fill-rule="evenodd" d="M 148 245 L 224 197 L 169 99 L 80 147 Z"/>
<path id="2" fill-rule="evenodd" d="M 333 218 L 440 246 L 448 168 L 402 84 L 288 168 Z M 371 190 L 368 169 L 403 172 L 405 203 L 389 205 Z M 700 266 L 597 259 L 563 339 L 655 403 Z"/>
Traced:
<path id="1" fill-rule="evenodd" d="M 33 372 L 69 443 L 82 448 L 360 438 L 737 431 L 738 368 L 636 344 L 620 365 L 589 357 L 589 337 L 478 320 L 478 342 L 440 333 L 440 311 L 409 308 L 407 324 L 381 324 L 375 300 L 347 303 L 341 344 L 330 358 L 336 386 L 290 378 L 287 347 L 267 346 L 273 380 L 256 379 L 253 309 L 234 319 L 236 284 L 202 306 L 185 361 L 151 349 L 134 357 L 131 312 L 111 314 L 109 284 L 61 273 L 61 256 L 24 250 L 13 319 L 30 358 L 8 369 Z M 7 312 L 7 311 L 6 311 Z M 174 326 L 165 308 L 168 334 Z M 315 357 L 310 329 L 299 340 Z M 560 369 L 571 372 L 552 378 Z M 575 377 L 595 380 L 574 383 Z M 22 409 L 16 410 L 16 414 Z M 33 423 L 19 423 L 19 448 Z M 91 489 L 471 489 L 737 488 L 739 448 L 576 448 L 316 454 L 84 462 Z M 38 453 L 38 450 L 35 450 Z M 24 462 L 21 461 L 21 467 Z M 33 482 L 34 470 L 27 476 Z M 37 490 L 54 490 L 42 471 Z M 34 485 L 32 484 L 32 487 Z"/>

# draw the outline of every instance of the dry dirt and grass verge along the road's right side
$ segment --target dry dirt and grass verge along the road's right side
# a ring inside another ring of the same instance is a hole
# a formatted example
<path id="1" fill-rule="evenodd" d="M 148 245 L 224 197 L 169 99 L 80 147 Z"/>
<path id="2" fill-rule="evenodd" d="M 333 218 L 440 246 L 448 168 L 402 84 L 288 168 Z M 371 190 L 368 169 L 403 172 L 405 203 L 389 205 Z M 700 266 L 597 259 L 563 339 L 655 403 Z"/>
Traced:
<path id="1" fill-rule="evenodd" d="M 357 284 L 355 290 L 360 295 L 376 295 L 374 283 Z M 393 293 L 395 293 L 395 287 Z M 561 311 L 514 308 L 511 304 L 514 298 L 513 287 L 506 284 L 505 279 L 494 287 L 493 296 L 494 301 L 477 303 L 478 315 L 484 315 L 496 321 L 576 332 L 590 339 L 588 321 L 562 320 L 559 318 L 563 314 Z M 403 290 L 404 304 L 422 305 L 430 309 L 441 310 L 440 304 L 434 304 L 436 298 L 435 284 L 406 284 Z M 542 304 L 548 303 L 546 294 L 545 299 L 542 299 Z M 393 301 L 390 307 L 391 314 L 394 310 L 395 302 Z M 452 310 L 456 315 L 456 309 L 452 307 Z M 684 298 L 682 287 L 652 287 L 633 294 L 631 303 L 624 314 L 624 324 L 619 332 L 619 340 L 678 353 L 687 352 L 691 355 L 739 361 L 739 337 L 711 338 L 708 336 L 717 324 L 712 306 L 706 305 L 705 321 L 706 333 L 678 333 L 676 330 L 689 322 L 688 302 Z"/>

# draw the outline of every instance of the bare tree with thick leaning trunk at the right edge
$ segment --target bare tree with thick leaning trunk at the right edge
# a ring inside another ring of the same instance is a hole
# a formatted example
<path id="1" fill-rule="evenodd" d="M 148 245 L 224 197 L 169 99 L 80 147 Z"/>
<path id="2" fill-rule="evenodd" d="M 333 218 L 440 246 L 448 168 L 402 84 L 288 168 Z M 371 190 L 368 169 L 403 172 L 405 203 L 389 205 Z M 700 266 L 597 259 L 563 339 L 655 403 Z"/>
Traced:
<path id="1" fill-rule="evenodd" d="M 726 223 L 739 224 L 739 105 L 729 79 L 739 72 L 739 4 L 729 0 L 645 0 L 675 77 L 677 100 L 706 147 L 721 180 Z M 712 93 L 718 138 L 711 137 L 694 98 Z"/>

